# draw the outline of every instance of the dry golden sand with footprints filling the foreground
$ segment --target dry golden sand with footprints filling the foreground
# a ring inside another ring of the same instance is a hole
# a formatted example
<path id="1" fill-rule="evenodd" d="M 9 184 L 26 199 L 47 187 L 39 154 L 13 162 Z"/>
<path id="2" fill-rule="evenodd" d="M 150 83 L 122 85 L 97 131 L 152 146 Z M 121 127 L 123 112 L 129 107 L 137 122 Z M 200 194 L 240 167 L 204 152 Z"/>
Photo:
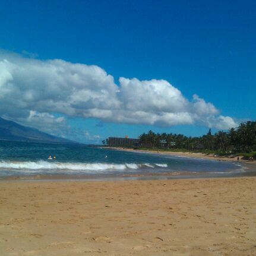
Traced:
<path id="1" fill-rule="evenodd" d="M 0 255 L 256 255 L 256 178 L 0 182 Z"/>

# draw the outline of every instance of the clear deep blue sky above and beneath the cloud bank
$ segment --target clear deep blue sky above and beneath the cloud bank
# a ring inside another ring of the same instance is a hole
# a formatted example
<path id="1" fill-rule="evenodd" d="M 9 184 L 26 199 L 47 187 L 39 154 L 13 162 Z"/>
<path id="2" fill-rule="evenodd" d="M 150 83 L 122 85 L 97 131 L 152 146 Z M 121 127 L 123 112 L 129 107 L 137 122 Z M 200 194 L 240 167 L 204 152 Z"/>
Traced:
<path id="1" fill-rule="evenodd" d="M 255 1 L 1 1 L 0 5 L 0 48 L 8 51 L 5 57 L 18 53 L 42 62 L 61 59 L 97 65 L 112 75 L 117 86 L 122 86 L 119 77 L 166 80 L 189 102 L 197 94 L 212 103 L 220 110 L 214 118 L 255 120 Z M 115 135 L 137 137 L 148 129 L 186 135 L 205 134 L 210 126 L 217 129 L 214 121 L 209 125 L 202 116 L 192 123 L 139 124 L 31 106 L 28 111 L 63 116 L 69 127 L 64 135 L 87 143 Z M 2 116 L 34 125 L 19 120 L 7 107 Z"/>

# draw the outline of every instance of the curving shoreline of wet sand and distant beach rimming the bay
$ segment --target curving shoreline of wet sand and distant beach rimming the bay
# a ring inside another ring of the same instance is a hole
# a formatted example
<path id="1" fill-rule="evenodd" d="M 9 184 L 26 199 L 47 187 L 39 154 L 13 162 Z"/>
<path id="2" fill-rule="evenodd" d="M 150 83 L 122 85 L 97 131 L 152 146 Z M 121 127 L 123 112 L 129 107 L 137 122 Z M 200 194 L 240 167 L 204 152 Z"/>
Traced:
<path id="1" fill-rule="evenodd" d="M 148 181 L 148 180 L 178 180 L 178 179 L 214 179 L 214 178 L 239 178 L 256 176 L 255 162 L 236 159 L 230 157 L 214 157 L 203 153 L 189 153 L 189 152 L 173 152 L 173 151 L 154 151 L 154 150 L 134 150 L 132 148 L 121 147 L 102 147 L 107 150 L 128 151 L 133 153 L 147 153 L 165 156 L 187 157 L 191 159 L 207 159 L 220 162 L 231 162 L 232 165 L 239 166 L 233 172 L 206 172 L 206 171 L 183 171 L 173 170 L 172 172 L 134 172 L 134 173 L 121 173 L 121 174 L 106 174 L 102 175 L 86 175 L 86 174 L 28 174 L 28 175 L 10 175 L 0 176 L 0 182 L 19 182 L 19 181 Z M 230 169 L 231 170 L 231 169 Z"/>

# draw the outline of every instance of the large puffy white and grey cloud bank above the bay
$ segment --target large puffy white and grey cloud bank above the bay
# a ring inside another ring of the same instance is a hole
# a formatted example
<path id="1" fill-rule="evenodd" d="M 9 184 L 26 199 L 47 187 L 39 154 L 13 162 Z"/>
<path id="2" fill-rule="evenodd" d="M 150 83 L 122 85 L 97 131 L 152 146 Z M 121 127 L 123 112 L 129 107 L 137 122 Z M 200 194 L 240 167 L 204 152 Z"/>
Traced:
<path id="1" fill-rule="evenodd" d="M 236 122 L 197 94 L 186 99 L 166 80 L 119 78 L 96 66 L 0 52 L 0 116 L 37 128 L 62 127 L 63 116 L 127 124 L 198 124 L 226 129 Z M 63 115 L 55 118 L 53 113 Z M 42 129 L 42 128 L 41 128 Z"/>

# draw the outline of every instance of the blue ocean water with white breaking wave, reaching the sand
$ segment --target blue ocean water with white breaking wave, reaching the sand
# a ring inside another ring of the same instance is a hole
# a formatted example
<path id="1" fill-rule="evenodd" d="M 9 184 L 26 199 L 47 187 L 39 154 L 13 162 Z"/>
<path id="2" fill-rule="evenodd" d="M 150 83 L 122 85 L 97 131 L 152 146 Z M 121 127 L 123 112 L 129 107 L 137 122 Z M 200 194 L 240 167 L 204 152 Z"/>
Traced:
<path id="1" fill-rule="evenodd" d="M 83 144 L 0 141 L 0 179 L 172 179 L 255 175 L 255 170 L 248 170 L 247 166 Z"/>

